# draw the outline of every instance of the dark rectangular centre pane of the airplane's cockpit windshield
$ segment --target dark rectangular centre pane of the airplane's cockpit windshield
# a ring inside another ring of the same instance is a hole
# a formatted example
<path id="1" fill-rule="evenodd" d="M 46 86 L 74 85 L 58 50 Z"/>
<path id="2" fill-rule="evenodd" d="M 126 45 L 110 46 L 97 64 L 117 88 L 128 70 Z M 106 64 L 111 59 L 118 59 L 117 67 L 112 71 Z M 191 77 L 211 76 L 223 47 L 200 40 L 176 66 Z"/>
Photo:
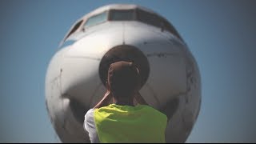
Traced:
<path id="1" fill-rule="evenodd" d="M 110 21 L 132 21 L 135 20 L 134 10 L 110 10 Z"/>

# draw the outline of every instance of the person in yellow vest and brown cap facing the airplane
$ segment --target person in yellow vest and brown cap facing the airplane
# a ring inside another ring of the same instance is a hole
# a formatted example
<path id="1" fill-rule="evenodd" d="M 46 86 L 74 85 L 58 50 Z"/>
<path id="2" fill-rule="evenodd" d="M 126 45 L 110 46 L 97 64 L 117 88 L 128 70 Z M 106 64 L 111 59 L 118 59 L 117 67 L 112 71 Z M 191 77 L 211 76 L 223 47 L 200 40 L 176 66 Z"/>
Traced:
<path id="1" fill-rule="evenodd" d="M 166 142 L 167 117 L 139 94 L 140 74 L 133 62 L 114 62 L 106 94 L 85 114 L 90 142 Z"/>

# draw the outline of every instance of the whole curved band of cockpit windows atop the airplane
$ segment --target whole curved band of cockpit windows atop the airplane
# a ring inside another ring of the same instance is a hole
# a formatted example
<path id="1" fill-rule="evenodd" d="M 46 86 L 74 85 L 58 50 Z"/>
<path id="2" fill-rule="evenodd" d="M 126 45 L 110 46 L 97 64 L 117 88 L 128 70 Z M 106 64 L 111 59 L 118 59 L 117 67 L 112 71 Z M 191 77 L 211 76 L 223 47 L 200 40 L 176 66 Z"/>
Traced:
<path id="1" fill-rule="evenodd" d="M 159 27 L 161 30 L 167 30 L 170 33 L 176 35 L 178 38 L 181 38 L 178 32 L 174 29 L 174 26 L 172 26 L 170 22 L 168 22 L 165 18 L 162 18 L 158 14 L 154 14 L 152 12 L 142 10 L 140 8 L 126 9 L 126 10 L 110 9 L 110 10 L 105 10 L 100 14 L 94 14 L 89 18 L 82 19 L 82 21 L 78 22 L 74 26 L 73 30 L 70 30 L 66 38 L 70 37 L 71 34 L 78 31 L 78 27 L 80 27 L 80 25 L 82 25 L 82 29 L 79 29 L 79 30 L 86 30 L 92 26 L 96 26 L 98 24 L 108 22 L 108 21 L 143 22 L 150 26 Z"/>

